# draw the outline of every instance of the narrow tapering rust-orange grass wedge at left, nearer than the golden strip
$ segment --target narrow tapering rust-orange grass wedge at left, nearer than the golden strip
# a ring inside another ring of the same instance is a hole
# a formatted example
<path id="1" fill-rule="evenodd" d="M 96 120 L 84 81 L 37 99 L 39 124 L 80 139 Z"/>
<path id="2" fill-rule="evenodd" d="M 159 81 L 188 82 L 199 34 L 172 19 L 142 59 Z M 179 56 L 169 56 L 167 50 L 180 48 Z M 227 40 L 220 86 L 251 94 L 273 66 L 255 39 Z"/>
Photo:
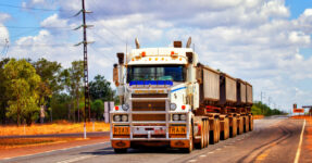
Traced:
<path id="1" fill-rule="evenodd" d="M 82 140 L 82 138 L 18 138 L 18 139 L 0 139 L 0 150 L 23 148 L 32 146 L 45 146 L 51 143 L 61 143 L 73 140 Z"/>

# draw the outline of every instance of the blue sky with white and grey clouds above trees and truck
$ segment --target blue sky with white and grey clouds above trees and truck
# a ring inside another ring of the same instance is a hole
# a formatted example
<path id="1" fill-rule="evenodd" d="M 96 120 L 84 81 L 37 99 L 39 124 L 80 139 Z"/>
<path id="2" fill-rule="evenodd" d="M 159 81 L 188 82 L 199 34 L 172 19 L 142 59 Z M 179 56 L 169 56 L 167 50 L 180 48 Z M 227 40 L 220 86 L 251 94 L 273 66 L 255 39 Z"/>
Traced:
<path id="1" fill-rule="evenodd" d="M 80 0 L 1 0 L 1 57 L 83 60 L 80 9 Z M 203 64 L 253 85 L 254 101 L 312 105 L 312 0 L 86 0 L 86 9 L 90 79 L 112 80 L 116 52 L 136 37 L 148 48 L 190 36 Z"/>

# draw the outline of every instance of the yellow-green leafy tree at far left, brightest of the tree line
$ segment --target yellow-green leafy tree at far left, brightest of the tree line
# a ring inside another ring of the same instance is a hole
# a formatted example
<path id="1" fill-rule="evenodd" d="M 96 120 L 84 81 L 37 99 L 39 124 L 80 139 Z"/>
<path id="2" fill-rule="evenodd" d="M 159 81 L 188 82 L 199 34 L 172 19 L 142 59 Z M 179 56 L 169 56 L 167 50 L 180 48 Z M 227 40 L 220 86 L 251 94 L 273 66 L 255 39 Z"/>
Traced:
<path id="1" fill-rule="evenodd" d="M 3 71 L 7 88 L 7 96 L 10 97 L 7 116 L 16 120 L 17 126 L 22 120 L 32 125 L 39 106 L 38 85 L 41 82 L 36 74 L 35 67 L 26 60 L 16 61 L 11 59 Z"/>

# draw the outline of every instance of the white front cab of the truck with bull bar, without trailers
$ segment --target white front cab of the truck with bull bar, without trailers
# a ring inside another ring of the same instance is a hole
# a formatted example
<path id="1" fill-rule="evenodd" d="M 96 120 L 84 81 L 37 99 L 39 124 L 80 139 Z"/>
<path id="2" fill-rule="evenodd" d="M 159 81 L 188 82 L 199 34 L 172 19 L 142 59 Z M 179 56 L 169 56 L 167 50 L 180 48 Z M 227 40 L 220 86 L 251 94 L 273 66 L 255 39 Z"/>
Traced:
<path id="1" fill-rule="evenodd" d="M 115 151 L 136 146 L 192 146 L 191 111 L 199 106 L 198 61 L 192 49 L 134 49 L 117 58 L 114 83 L 120 105 L 110 113 Z"/>

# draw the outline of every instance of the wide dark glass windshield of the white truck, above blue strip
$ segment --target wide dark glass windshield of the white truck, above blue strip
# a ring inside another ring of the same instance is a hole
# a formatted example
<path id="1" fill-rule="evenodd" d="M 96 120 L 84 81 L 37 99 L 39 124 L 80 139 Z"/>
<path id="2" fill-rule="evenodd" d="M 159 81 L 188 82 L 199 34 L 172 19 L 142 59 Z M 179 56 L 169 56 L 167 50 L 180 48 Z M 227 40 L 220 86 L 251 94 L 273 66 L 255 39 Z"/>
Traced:
<path id="1" fill-rule="evenodd" d="M 133 65 L 128 66 L 127 83 L 132 80 L 185 82 L 186 68 L 183 65 Z"/>

